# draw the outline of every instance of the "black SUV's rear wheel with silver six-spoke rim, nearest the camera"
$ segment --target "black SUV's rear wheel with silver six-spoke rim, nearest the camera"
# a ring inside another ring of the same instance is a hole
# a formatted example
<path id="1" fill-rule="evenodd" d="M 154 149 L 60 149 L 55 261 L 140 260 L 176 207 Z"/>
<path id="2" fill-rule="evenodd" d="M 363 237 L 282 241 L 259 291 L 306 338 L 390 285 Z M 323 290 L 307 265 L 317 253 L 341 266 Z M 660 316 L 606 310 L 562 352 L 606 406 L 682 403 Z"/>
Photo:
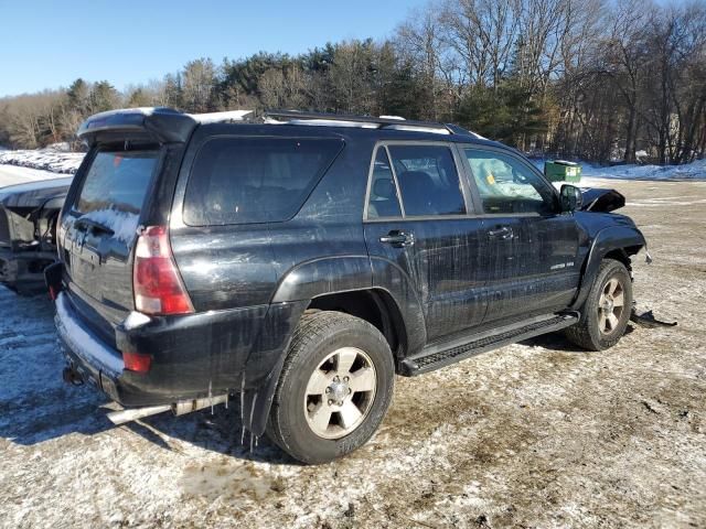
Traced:
<path id="1" fill-rule="evenodd" d="M 277 384 L 267 435 L 308 464 L 353 452 L 385 417 L 394 377 L 389 345 L 373 325 L 342 312 L 307 312 Z"/>

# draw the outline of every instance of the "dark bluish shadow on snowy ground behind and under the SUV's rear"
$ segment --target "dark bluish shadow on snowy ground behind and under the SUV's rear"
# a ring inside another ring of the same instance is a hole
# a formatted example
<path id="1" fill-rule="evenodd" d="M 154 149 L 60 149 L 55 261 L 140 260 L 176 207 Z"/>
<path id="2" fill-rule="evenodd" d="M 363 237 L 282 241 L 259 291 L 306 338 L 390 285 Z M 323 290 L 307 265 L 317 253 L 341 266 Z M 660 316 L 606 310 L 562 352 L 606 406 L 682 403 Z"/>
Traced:
<path id="1" fill-rule="evenodd" d="M 62 378 L 64 357 L 56 341 L 54 307 L 46 295 L 18 295 L 0 287 L 0 440 L 38 445 L 65 435 L 99 436 L 127 429 L 164 450 L 183 441 L 237 458 L 295 463 L 266 438 L 240 443 L 239 401 L 182 417 L 170 412 L 116 427 L 110 402 L 90 386 Z"/>

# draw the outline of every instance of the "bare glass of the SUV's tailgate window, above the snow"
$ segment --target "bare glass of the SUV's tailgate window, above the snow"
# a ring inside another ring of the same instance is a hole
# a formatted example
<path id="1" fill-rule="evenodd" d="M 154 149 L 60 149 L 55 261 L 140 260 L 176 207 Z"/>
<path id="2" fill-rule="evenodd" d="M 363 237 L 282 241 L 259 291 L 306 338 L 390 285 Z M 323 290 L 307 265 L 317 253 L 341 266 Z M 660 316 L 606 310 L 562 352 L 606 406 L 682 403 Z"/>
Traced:
<path id="1" fill-rule="evenodd" d="M 101 151 L 94 158 L 74 206 L 78 213 L 139 214 L 157 165 L 157 151 Z"/>

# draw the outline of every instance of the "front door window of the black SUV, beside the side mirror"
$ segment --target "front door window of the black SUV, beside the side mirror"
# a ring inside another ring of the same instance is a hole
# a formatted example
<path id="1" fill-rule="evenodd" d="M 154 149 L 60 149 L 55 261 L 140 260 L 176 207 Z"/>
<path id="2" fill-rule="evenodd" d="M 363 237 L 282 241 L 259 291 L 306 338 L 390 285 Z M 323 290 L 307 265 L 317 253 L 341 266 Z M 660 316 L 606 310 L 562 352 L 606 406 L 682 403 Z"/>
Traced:
<path id="1" fill-rule="evenodd" d="M 554 193 L 530 168 L 500 152 L 466 149 L 483 204 L 483 213 L 513 214 L 554 210 Z"/>

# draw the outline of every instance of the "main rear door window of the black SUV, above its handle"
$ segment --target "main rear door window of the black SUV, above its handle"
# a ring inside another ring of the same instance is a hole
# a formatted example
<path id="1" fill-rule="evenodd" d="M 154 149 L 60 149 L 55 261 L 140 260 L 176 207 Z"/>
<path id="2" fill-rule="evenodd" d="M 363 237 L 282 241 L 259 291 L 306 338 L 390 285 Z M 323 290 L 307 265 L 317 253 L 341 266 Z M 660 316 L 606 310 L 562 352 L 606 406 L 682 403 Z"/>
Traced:
<path id="1" fill-rule="evenodd" d="M 389 145 L 405 216 L 463 215 L 453 155 L 442 145 Z"/>

